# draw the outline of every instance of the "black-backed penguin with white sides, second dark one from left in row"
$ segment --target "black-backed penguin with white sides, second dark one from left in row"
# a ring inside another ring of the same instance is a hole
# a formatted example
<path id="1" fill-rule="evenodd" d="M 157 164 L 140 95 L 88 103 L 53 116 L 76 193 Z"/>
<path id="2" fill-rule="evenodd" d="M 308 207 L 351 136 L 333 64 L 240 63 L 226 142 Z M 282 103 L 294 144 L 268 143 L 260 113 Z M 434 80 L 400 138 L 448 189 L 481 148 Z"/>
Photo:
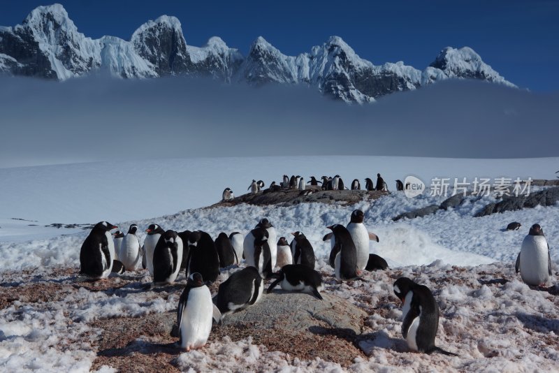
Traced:
<path id="1" fill-rule="evenodd" d="M 182 240 L 175 231 L 168 230 L 153 251 L 153 281 L 156 284 L 171 284 L 177 278 L 182 263 Z"/>

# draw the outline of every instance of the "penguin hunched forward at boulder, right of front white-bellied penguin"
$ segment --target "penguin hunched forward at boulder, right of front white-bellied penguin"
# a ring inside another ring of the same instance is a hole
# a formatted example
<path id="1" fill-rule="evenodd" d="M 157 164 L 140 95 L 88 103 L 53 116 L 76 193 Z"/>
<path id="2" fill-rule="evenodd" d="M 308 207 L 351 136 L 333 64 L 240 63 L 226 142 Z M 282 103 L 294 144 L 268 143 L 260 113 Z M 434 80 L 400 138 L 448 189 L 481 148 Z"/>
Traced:
<path id="1" fill-rule="evenodd" d="M 222 316 L 238 312 L 258 302 L 263 288 L 264 284 L 258 270 L 254 267 L 243 268 L 219 285 L 215 305 Z"/>

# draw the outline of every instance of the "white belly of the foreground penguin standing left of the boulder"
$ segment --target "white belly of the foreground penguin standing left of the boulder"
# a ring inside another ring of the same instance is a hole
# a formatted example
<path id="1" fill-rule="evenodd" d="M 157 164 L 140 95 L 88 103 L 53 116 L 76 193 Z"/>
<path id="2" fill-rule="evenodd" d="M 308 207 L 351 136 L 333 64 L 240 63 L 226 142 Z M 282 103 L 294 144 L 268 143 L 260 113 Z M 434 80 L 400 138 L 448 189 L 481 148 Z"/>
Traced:
<path id="1" fill-rule="evenodd" d="M 212 312 L 212 295 L 208 286 L 191 288 L 180 321 L 183 349 L 197 349 L 208 341 L 212 330 Z"/>

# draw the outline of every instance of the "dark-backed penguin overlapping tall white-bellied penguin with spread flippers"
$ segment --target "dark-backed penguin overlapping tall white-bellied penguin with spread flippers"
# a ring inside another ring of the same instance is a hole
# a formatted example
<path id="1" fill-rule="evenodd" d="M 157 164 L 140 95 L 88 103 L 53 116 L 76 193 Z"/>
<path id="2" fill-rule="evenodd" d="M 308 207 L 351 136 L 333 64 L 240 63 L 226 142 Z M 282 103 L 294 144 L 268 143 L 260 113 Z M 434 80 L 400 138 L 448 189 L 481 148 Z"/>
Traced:
<path id="1" fill-rule="evenodd" d="M 347 228 L 341 224 L 326 227 L 332 230 L 334 245 L 330 253 L 330 265 L 334 268 L 335 277 L 341 279 L 356 279 L 357 249 Z"/>

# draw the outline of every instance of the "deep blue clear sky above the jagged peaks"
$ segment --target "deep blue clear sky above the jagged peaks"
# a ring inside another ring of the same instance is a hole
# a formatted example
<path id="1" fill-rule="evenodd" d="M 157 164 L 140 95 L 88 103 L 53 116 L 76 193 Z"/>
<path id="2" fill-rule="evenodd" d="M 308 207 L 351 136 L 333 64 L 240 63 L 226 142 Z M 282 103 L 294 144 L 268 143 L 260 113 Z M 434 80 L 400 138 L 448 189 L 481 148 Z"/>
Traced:
<path id="1" fill-rule="evenodd" d="M 0 25 L 13 26 L 51 2 L 3 0 Z M 82 33 L 129 40 L 159 15 L 175 15 L 190 45 L 220 36 L 243 54 L 263 36 L 284 54 L 341 36 L 373 64 L 423 69 L 443 47 L 472 47 L 507 80 L 557 92 L 559 1 L 59 1 Z"/>

